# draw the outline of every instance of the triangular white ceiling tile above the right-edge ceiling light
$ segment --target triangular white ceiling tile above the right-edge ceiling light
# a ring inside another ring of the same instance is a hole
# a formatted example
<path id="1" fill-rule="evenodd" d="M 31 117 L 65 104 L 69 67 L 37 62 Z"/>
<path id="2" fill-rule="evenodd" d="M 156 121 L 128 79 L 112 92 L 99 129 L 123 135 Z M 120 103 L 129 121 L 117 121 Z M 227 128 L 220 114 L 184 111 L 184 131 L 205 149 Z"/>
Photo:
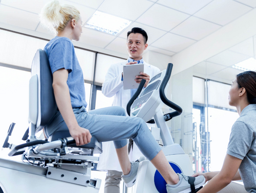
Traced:
<path id="1" fill-rule="evenodd" d="M 229 50 L 253 57 L 253 38 L 251 37 L 247 40 L 244 40 L 243 42 L 234 45 Z"/>

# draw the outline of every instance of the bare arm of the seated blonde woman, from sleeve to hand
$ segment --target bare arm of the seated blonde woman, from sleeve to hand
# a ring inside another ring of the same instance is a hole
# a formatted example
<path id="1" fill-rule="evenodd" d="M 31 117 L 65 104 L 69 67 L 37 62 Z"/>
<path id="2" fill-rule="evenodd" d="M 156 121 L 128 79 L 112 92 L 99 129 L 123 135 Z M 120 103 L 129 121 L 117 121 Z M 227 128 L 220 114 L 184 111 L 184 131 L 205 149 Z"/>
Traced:
<path id="1" fill-rule="evenodd" d="M 75 139 L 77 146 L 82 146 L 91 141 L 91 134 L 88 129 L 81 128 L 76 120 L 71 105 L 70 92 L 67 84 L 69 72 L 61 68 L 53 73 L 53 91 L 55 100 L 65 123 L 69 128 L 71 136 Z"/>

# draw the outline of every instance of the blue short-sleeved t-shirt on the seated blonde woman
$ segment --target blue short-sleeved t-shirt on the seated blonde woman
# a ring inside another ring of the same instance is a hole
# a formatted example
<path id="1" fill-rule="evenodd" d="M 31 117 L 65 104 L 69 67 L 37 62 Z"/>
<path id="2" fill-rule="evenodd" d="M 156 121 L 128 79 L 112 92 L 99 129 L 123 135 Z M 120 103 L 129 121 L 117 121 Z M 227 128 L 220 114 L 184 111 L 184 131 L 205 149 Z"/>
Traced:
<path id="1" fill-rule="evenodd" d="M 44 50 L 49 58 L 52 74 L 61 68 L 69 71 L 67 84 L 72 107 L 87 107 L 82 69 L 76 58 L 72 41 L 66 37 L 56 36 L 47 43 Z"/>

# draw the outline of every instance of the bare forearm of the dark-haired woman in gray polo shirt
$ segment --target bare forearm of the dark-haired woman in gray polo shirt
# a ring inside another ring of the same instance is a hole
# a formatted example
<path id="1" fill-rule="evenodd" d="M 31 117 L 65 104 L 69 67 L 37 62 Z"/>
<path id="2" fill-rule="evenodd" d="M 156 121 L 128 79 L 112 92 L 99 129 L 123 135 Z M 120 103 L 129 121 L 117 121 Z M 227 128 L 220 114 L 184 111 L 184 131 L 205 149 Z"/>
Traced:
<path id="1" fill-rule="evenodd" d="M 226 187 L 235 178 L 238 179 L 238 168 L 241 162 L 242 159 L 227 154 L 221 171 L 217 173 L 212 173 L 212 175 L 215 174 L 215 176 L 201 190 L 199 190 L 198 193 L 218 192 L 222 188 Z"/>

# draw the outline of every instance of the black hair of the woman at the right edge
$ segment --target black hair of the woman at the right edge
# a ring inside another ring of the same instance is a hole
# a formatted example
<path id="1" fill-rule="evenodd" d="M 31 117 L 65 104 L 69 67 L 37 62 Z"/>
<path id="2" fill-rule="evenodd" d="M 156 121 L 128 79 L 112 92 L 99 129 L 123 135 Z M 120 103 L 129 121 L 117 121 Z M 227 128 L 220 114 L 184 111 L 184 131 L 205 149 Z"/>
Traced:
<path id="1" fill-rule="evenodd" d="M 256 104 L 256 72 L 244 71 L 237 75 L 239 88 L 245 88 L 249 104 Z"/>

